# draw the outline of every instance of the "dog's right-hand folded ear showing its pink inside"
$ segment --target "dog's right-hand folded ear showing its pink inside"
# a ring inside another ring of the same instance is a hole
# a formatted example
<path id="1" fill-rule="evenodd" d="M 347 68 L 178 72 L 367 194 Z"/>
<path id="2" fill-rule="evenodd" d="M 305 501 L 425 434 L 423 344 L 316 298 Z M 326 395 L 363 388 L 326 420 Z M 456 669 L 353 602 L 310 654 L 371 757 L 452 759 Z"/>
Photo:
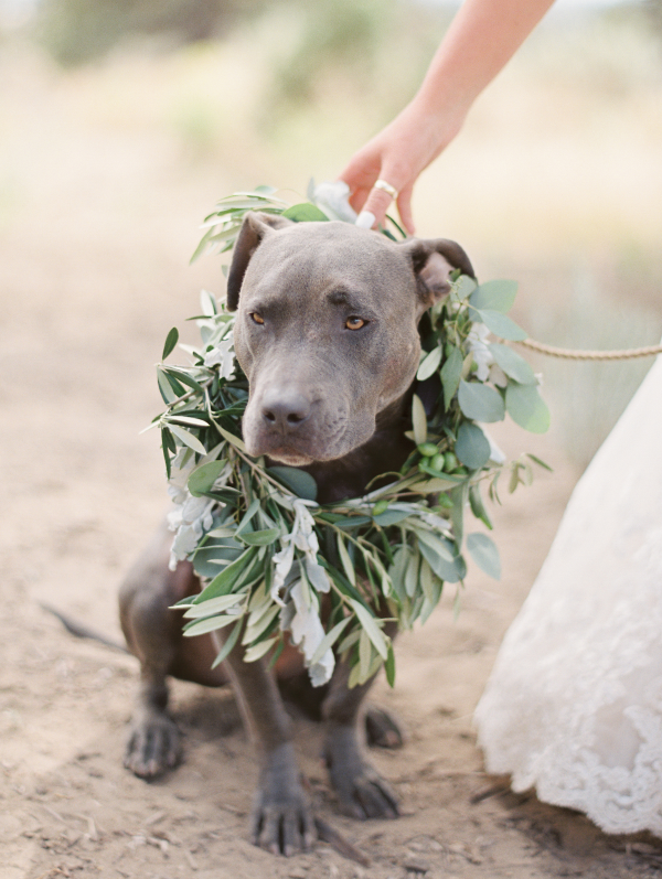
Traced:
<path id="1" fill-rule="evenodd" d="M 448 238 L 406 242 L 399 245 L 412 260 L 416 276 L 418 298 L 423 309 L 428 309 L 450 292 L 449 275 L 460 269 L 462 275 L 476 278 L 469 257 L 456 242 Z"/>

